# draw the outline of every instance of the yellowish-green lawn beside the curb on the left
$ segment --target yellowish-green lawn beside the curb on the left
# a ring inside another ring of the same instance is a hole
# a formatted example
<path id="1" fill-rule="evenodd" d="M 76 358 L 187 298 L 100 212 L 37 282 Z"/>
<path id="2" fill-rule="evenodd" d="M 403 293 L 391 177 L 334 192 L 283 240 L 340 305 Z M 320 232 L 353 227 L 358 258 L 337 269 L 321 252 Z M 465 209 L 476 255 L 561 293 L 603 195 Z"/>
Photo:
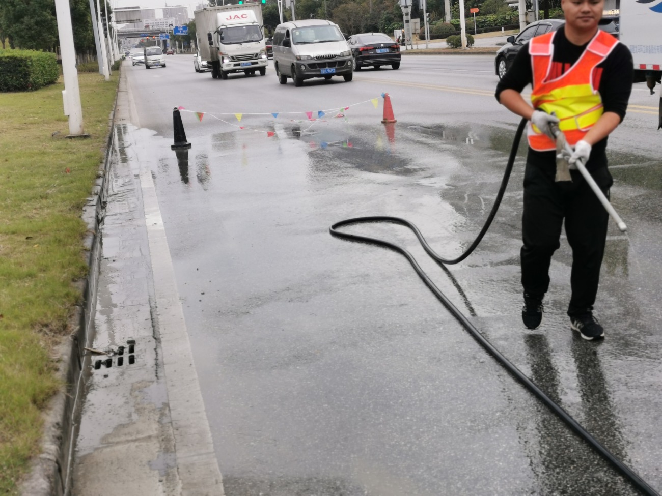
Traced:
<path id="1" fill-rule="evenodd" d="M 79 73 L 83 126 L 65 138 L 62 77 L 30 93 L 0 93 L 0 494 L 16 494 L 38 454 L 40 413 L 62 384 L 50 358 L 73 331 L 87 273 L 81 220 L 109 133 L 118 73 Z"/>

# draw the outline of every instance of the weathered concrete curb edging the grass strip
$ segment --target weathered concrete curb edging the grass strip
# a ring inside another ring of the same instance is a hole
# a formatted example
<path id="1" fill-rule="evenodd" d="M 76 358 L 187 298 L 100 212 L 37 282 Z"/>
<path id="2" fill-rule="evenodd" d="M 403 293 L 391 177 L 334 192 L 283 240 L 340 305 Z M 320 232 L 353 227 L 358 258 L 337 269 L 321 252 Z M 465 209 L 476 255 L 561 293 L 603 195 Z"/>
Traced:
<path id="1" fill-rule="evenodd" d="M 120 69 L 121 70 L 121 69 Z M 118 85 L 119 86 L 119 85 Z M 40 442 L 40 454 L 30 462 L 30 470 L 19 484 L 19 493 L 24 496 L 62 496 L 71 479 L 71 456 L 75 446 L 80 417 L 79 406 L 82 401 L 81 374 L 85 370 L 83 347 L 94 333 L 94 314 L 97 302 L 97 280 L 99 277 L 99 257 L 101 243 L 99 226 L 105 216 L 107 176 L 111 148 L 113 147 L 113 124 L 117 110 L 117 89 L 113 111 L 109 117 L 109 136 L 105 157 L 91 195 L 83 207 L 82 219 L 87 224 L 87 236 L 83 246 L 87 252 L 86 262 L 89 272 L 85 280 L 77 286 L 83 296 L 83 304 L 77 306 L 71 317 L 70 328 L 73 332 L 62 342 L 50 357 L 58 362 L 56 377 L 62 388 L 48 403 L 42 413 L 44 427 Z"/>

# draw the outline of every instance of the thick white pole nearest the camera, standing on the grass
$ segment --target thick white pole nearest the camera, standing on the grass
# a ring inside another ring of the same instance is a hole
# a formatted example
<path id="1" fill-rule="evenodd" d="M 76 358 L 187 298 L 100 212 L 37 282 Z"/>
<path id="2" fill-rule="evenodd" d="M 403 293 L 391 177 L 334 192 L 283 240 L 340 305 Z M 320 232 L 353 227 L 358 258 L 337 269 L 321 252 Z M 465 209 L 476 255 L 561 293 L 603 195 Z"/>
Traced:
<path id="1" fill-rule="evenodd" d="M 83 107 L 81 106 L 81 95 L 78 87 L 76 50 L 73 47 L 69 0 L 56 0 L 55 11 L 58 18 L 62 74 L 64 75 L 64 91 L 62 92 L 64 114 L 69 116 L 70 136 L 83 136 L 85 134 L 83 131 Z"/>

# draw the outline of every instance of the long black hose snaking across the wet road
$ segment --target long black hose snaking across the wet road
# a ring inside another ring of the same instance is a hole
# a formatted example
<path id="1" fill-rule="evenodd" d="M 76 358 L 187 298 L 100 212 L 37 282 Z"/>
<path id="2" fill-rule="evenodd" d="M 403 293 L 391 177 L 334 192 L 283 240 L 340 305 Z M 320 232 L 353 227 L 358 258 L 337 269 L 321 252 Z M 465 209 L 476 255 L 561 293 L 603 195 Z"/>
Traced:
<path id="1" fill-rule="evenodd" d="M 510 372 L 517 380 L 519 380 L 526 388 L 534 393 L 540 401 L 545 403 L 551 411 L 556 413 L 563 422 L 565 422 L 575 433 L 579 434 L 581 438 L 583 438 L 586 442 L 588 442 L 594 450 L 596 450 L 600 455 L 602 455 L 603 458 L 606 458 L 608 462 L 610 462 L 614 467 L 616 467 L 616 470 L 623 474 L 628 480 L 632 482 L 632 484 L 639 489 L 642 493 L 650 496 L 660 496 L 659 493 L 655 491 L 652 487 L 650 487 L 645 481 L 643 481 L 639 475 L 635 474 L 632 472 L 632 470 L 624 464 L 621 460 L 616 458 L 614 454 L 612 454 L 607 448 L 602 446 L 596 438 L 591 436 L 581 425 L 567 413 L 563 408 L 561 408 L 557 403 L 555 403 L 549 396 L 547 396 L 536 384 L 530 380 L 525 374 L 523 374 L 516 366 L 514 366 L 508 358 L 506 358 L 503 354 L 501 354 L 500 351 L 498 351 L 492 343 L 490 343 L 481 333 L 479 333 L 478 329 L 474 327 L 474 325 L 461 313 L 461 311 L 457 310 L 455 305 L 451 303 L 451 301 L 446 298 L 446 295 L 441 292 L 441 290 L 432 282 L 430 277 L 428 277 L 428 274 L 426 274 L 418 265 L 416 262 L 416 259 L 412 256 L 411 253 L 409 253 L 406 249 L 399 245 L 395 245 L 393 243 L 389 243 L 389 241 L 384 241 L 383 239 L 377 239 L 373 237 L 367 237 L 367 236 L 361 236 L 357 234 L 348 234 L 344 233 L 342 231 L 338 231 L 339 227 L 342 226 L 349 226 L 350 224 L 361 224 L 365 222 L 391 222 L 394 224 L 401 224 L 402 226 L 409 227 L 414 231 L 416 234 L 416 237 L 418 237 L 418 241 L 420 241 L 421 245 L 425 249 L 425 251 L 438 263 L 446 264 L 446 265 L 451 265 L 455 263 L 459 263 L 463 261 L 465 258 L 467 258 L 472 251 L 475 250 L 475 248 L 479 245 L 481 240 L 483 239 L 483 236 L 485 236 L 485 233 L 487 232 L 487 229 L 489 229 L 490 224 L 492 224 L 493 219 L 496 216 L 496 211 L 498 210 L 498 207 L 501 203 L 501 200 L 503 198 L 503 194 L 506 190 L 506 186 L 508 186 L 508 179 L 510 179 L 510 173 L 512 171 L 512 166 L 515 162 L 515 156 L 517 155 L 517 149 L 520 145 L 520 140 L 522 139 L 522 132 L 524 131 L 524 126 L 526 126 L 526 119 L 522 119 L 522 122 L 520 122 L 520 125 L 517 128 L 517 131 L 515 133 L 515 138 L 512 142 L 512 148 L 510 149 L 510 156 L 508 157 L 508 164 L 506 165 L 506 171 L 504 172 L 503 179 L 501 181 L 501 185 L 498 190 L 498 194 L 496 195 L 495 199 L 495 204 L 492 207 L 492 210 L 487 217 L 487 221 L 485 222 L 485 225 L 481 229 L 479 235 L 476 237 L 476 239 L 471 243 L 471 246 L 459 257 L 456 259 L 443 259 L 435 251 L 428 245 L 426 242 L 425 238 L 423 235 L 420 233 L 418 230 L 418 227 L 414 226 L 411 222 L 408 222 L 407 220 L 404 220 L 399 217 L 389 217 L 389 216 L 370 216 L 370 217 L 356 217 L 352 219 L 346 219 L 346 220 L 341 220 L 340 222 L 336 222 L 336 224 L 333 224 L 331 227 L 329 227 L 329 232 L 331 233 L 332 236 L 336 237 L 341 237 L 344 239 L 349 239 L 350 241 L 362 241 L 364 243 L 372 243 L 375 245 L 382 245 L 384 247 L 390 248 L 392 250 L 397 251 L 398 253 L 401 253 L 406 257 L 406 259 L 409 261 L 409 263 L 414 267 L 414 270 L 416 270 L 416 273 L 420 278 L 425 282 L 425 284 L 432 290 L 434 295 L 448 308 L 448 310 L 455 316 L 455 318 L 469 331 L 469 334 L 478 341 L 478 343 L 483 346 L 496 360 Z"/>

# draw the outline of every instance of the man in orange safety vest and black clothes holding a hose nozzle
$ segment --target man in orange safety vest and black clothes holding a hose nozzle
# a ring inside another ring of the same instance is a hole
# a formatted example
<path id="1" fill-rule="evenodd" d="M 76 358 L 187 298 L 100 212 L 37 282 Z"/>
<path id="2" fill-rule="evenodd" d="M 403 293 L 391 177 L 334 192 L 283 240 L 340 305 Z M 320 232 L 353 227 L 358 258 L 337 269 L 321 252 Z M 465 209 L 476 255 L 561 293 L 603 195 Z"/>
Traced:
<path id="1" fill-rule="evenodd" d="M 608 196 L 607 136 L 623 120 L 632 90 L 632 55 L 616 38 L 598 29 L 604 0 L 561 0 L 565 24 L 522 47 L 496 87 L 496 99 L 530 120 L 524 171 L 524 211 L 520 253 L 524 308 L 522 321 L 536 329 L 549 288 L 551 256 L 559 248 L 561 226 L 573 251 L 571 329 L 584 339 L 604 337 L 593 316 L 608 213 L 576 170 L 585 163 Z M 520 92 L 531 83 L 531 103 Z M 573 147 L 572 181 L 555 181 L 557 125 Z"/>

